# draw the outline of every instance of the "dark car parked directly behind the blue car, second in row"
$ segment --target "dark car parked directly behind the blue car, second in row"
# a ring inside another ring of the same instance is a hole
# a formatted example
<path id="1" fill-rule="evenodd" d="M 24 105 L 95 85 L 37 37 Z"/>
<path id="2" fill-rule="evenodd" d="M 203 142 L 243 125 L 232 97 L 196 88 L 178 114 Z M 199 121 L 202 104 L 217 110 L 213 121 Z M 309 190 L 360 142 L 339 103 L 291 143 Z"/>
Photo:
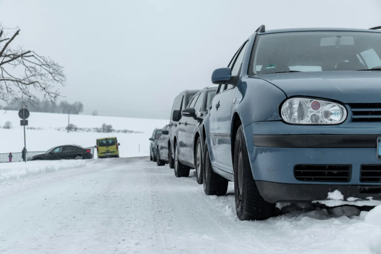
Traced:
<path id="1" fill-rule="evenodd" d="M 178 121 L 175 131 L 175 175 L 188 177 L 190 168 L 196 168 L 196 179 L 202 183 L 203 121 L 216 95 L 217 87 L 199 91 L 186 109 L 174 110 L 173 121 Z"/>

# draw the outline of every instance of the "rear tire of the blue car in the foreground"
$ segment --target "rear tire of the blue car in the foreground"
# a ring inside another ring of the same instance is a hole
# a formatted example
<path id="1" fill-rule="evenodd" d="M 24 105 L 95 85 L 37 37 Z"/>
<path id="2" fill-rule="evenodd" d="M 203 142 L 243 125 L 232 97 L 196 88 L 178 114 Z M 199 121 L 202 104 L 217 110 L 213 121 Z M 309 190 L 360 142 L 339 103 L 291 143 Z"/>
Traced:
<path id="1" fill-rule="evenodd" d="M 204 192 L 206 195 L 223 196 L 228 191 L 229 181 L 213 171 L 212 163 L 210 162 L 208 144 L 205 141 L 204 145 L 204 170 L 203 170 L 203 183 Z"/>

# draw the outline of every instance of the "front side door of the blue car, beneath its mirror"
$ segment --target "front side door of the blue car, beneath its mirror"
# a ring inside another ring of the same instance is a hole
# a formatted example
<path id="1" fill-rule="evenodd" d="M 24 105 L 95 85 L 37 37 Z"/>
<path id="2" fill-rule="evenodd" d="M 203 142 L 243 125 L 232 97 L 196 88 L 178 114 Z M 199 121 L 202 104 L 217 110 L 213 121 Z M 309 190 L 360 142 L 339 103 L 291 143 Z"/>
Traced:
<path id="1" fill-rule="evenodd" d="M 246 45 L 247 42 L 242 45 L 238 51 L 236 59 L 234 59 L 234 61 L 232 61 L 230 64 L 232 66 L 232 76 L 238 75 L 238 71 L 242 64 L 243 55 L 246 50 Z M 212 105 L 215 110 L 213 119 L 213 133 L 215 138 L 215 152 L 217 155 L 216 160 L 219 167 L 229 173 L 233 173 L 230 134 L 232 127 L 231 120 L 235 93 L 235 86 L 224 85 L 223 91 L 219 94 L 216 94 L 214 97 Z"/>

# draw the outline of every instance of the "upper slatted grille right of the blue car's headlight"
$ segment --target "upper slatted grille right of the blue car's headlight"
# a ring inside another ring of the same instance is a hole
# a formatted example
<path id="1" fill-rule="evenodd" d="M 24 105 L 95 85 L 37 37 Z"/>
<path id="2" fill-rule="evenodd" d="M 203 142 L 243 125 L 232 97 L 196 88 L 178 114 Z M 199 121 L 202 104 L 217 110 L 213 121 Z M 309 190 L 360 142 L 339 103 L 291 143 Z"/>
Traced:
<path id="1" fill-rule="evenodd" d="M 352 103 L 352 122 L 381 122 L 381 103 Z"/>

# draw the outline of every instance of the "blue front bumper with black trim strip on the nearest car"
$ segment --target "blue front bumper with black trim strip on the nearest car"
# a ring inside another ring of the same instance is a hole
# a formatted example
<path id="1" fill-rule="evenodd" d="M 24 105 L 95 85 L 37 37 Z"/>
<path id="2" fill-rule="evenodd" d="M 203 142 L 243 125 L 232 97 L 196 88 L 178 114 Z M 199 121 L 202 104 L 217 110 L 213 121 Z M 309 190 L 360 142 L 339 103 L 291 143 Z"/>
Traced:
<path id="1" fill-rule="evenodd" d="M 381 199 L 381 181 L 361 181 L 362 165 L 381 165 L 376 148 L 380 124 L 345 127 L 260 122 L 244 127 L 244 133 L 253 177 L 265 200 L 324 200 L 336 189 L 347 198 Z M 299 181 L 295 165 L 350 165 L 350 177 L 343 182 Z M 374 190 L 364 191 L 367 188 Z"/>

